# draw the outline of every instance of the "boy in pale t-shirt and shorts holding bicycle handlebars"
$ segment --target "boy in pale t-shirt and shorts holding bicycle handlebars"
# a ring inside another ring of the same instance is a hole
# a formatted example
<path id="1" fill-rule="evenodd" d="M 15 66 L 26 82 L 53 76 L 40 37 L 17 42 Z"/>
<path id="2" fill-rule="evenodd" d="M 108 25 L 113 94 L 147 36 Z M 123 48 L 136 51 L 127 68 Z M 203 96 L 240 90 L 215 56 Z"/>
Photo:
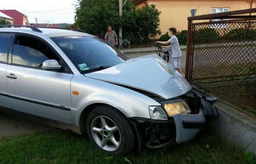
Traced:
<path id="1" fill-rule="evenodd" d="M 180 58 L 181 51 L 178 38 L 175 36 L 177 30 L 176 28 L 169 28 L 168 35 L 171 37 L 168 41 L 157 41 L 156 43 L 160 44 L 170 44 L 169 46 L 162 46 L 163 48 L 170 48 L 172 52 L 172 62 L 171 65 L 183 76 L 185 76 L 180 69 Z"/>

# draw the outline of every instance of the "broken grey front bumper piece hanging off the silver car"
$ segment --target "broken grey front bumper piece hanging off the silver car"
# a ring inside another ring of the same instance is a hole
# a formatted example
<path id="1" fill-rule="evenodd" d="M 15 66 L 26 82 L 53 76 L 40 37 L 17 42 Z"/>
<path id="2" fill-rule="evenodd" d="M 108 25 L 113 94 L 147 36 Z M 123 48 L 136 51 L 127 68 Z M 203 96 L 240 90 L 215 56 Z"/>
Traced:
<path id="1" fill-rule="evenodd" d="M 197 115 L 176 114 L 173 119 L 176 126 L 176 142 L 184 142 L 194 138 L 205 123 L 201 109 Z"/>

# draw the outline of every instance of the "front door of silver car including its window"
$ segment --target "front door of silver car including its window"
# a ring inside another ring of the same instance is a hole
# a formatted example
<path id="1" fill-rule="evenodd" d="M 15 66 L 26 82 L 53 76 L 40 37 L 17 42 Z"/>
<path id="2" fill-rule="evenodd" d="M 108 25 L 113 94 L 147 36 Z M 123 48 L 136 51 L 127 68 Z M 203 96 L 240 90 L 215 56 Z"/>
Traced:
<path id="1" fill-rule="evenodd" d="M 13 112 L 28 113 L 72 124 L 70 81 L 65 70 L 43 70 L 48 59 L 62 61 L 46 42 L 16 35 L 11 59 L 6 67 L 6 82 Z M 37 117 L 38 118 L 38 117 Z"/>

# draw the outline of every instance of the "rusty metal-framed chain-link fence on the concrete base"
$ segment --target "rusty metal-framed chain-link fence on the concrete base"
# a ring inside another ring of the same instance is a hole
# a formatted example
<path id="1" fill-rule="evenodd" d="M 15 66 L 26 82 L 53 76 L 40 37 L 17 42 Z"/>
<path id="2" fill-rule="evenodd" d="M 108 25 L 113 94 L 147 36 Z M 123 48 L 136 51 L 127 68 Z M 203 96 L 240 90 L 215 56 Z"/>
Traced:
<path id="1" fill-rule="evenodd" d="M 186 79 L 256 112 L 256 16 L 250 13 L 256 8 L 188 17 Z"/>

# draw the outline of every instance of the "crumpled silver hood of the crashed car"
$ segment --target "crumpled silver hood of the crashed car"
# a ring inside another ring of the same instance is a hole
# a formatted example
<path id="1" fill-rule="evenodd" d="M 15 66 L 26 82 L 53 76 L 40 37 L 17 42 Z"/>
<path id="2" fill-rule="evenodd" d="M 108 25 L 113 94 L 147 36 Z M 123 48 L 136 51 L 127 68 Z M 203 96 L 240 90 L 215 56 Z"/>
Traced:
<path id="1" fill-rule="evenodd" d="M 174 67 L 156 54 L 129 59 L 85 76 L 141 89 L 164 99 L 183 95 L 192 89 Z"/>

